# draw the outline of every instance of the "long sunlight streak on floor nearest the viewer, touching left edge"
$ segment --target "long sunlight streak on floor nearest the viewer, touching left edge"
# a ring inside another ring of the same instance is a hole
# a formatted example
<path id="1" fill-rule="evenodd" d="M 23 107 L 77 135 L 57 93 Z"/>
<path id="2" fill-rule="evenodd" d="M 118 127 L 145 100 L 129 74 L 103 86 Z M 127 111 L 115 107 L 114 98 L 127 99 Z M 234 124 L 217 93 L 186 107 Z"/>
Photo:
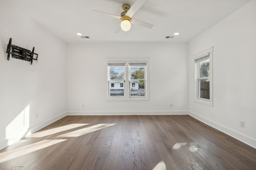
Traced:
<path id="1" fill-rule="evenodd" d="M 0 153 L 0 163 L 17 158 L 19 156 L 35 152 L 36 150 L 44 149 L 46 147 L 50 147 L 51 145 L 55 145 L 60 142 L 64 142 L 67 139 L 54 139 L 54 140 L 43 140 L 37 143 L 33 143 L 30 145 L 26 145 L 24 147 L 20 147 L 17 149 L 8 150 L 6 152 Z"/>

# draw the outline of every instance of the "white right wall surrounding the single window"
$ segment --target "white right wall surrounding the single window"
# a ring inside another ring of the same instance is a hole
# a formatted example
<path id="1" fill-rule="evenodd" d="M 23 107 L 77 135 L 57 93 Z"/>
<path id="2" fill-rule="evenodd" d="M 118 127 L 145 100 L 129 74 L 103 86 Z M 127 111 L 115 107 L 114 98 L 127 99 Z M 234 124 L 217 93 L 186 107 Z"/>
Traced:
<path id="1" fill-rule="evenodd" d="M 214 46 L 213 107 L 193 101 L 193 55 Z M 189 114 L 256 147 L 256 1 L 189 43 Z M 240 127 L 240 120 L 245 127 Z"/>

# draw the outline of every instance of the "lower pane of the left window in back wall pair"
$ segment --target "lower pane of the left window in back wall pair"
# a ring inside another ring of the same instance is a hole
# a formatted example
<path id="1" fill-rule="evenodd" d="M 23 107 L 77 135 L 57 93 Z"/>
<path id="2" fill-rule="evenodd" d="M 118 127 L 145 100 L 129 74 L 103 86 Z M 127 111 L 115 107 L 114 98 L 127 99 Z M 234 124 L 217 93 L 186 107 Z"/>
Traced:
<path id="1" fill-rule="evenodd" d="M 110 81 L 109 96 L 124 97 L 124 81 Z"/>

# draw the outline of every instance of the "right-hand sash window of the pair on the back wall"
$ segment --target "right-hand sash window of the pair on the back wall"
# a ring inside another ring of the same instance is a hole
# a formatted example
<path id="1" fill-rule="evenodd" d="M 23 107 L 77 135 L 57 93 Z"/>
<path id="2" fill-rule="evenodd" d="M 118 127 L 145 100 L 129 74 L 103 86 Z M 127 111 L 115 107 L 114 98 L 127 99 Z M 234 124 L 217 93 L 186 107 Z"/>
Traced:
<path id="1" fill-rule="evenodd" d="M 129 64 L 130 98 L 146 98 L 146 63 Z"/>

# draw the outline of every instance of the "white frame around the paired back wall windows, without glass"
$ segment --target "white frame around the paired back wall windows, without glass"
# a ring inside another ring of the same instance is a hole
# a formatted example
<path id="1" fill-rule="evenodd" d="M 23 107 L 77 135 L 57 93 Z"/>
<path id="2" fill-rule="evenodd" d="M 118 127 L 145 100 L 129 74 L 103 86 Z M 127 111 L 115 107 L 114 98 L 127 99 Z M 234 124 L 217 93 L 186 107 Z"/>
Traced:
<path id="1" fill-rule="evenodd" d="M 107 66 L 107 88 L 106 88 L 106 101 L 148 101 L 149 98 L 149 57 L 129 57 L 129 58 L 117 58 L 117 57 L 108 57 L 106 58 L 106 66 Z M 110 92 L 109 92 L 109 74 L 110 74 L 110 69 L 109 69 L 109 64 L 115 64 L 115 63 L 124 63 L 125 71 L 124 71 L 124 97 L 122 98 L 110 98 Z M 129 64 L 136 64 L 136 63 L 145 63 L 145 97 L 130 97 L 130 69 L 129 69 Z"/>

